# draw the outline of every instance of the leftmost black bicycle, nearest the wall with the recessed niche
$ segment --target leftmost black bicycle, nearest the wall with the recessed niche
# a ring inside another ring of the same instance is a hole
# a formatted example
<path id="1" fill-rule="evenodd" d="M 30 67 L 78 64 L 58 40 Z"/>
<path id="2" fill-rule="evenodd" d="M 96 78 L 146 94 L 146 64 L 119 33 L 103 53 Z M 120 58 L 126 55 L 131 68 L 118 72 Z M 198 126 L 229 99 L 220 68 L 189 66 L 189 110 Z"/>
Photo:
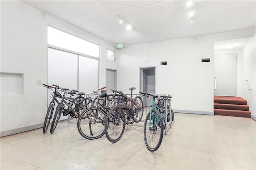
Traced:
<path id="1" fill-rule="evenodd" d="M 49 86 L 47 84 L 43 84 L 43 87 L 46 87 L 46 88 L 51 89 L 51 90 L 52 90 L 52 88 L 55 89 L 55 90 L 52 90 L 52 93 L 53 93 L 52 101 L 50 102 L 50 104 L 48 106 L 46 116 L 44 118 L 43 133 L 46 133 L 46 131 L 49 127 L 50 121 L 52 119 L 52 114 L 53 114 L 53 111 L 54 111 L 55 103 L 59 104 L 59 101 L 58 101 L 57 98 L 62 98 L 62 95 L 60 94 L 60 92 L 57 92 L 56 87 L 52 87 L 52 86 Z"/>

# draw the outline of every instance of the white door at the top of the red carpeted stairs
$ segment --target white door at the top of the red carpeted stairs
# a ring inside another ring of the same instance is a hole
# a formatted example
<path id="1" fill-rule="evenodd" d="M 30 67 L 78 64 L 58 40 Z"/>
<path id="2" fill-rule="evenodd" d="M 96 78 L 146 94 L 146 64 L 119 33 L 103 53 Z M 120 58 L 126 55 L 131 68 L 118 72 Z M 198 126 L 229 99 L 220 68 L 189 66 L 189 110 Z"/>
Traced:
<path id="1" fill-rule="evenodd" d="M 214 96 L 236 96 L 236 54 L 214 55 Z"/>

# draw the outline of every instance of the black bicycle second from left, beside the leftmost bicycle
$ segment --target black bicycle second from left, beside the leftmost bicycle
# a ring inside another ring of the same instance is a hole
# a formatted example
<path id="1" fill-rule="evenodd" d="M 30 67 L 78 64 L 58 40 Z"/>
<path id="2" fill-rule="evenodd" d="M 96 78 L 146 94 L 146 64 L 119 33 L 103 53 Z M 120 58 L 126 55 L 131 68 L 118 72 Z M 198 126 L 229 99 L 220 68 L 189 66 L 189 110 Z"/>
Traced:
<path id="1" fill-rule="evenodd" d="M 83 104 L 84 100 L 90 100 L 90 98 L 84 98 L 81 100 L 81 96 L 80 98 L 78 97 L 78 99 L 72 98 L 72 96 L 76 93 L 73 92 L 73 90 L 71 90 L 70 92 L 68 92 L 67 89 L 61 88 L 58 85 L 52 84 L 52 86 L 56 86 L 57 89 L 62 90 L 63 95 L 62 95 L 62 100 L 61 102 L 58 103 L 58 106 L 56 107 L 56 111 L 54 113 L 54 117 L 52 119 L 52 125 L 51 125 L 51 129 L 50 129 L 50 133 L 54 133 L 56 126 L 58 124 L 58 121 L 60 119 L 61 113 L 66 116 L 66 115 L 70 115 L 72 118 L 79 117 L 79 113 L 86 108 L 86 106 Z M 65 97 L 65 94 L 70 94 L 70 98 Z M 81 93 L 82 95 L 83 93 Z M 68 108 L 65 109 L 64 106 L 67 106 Z"/>

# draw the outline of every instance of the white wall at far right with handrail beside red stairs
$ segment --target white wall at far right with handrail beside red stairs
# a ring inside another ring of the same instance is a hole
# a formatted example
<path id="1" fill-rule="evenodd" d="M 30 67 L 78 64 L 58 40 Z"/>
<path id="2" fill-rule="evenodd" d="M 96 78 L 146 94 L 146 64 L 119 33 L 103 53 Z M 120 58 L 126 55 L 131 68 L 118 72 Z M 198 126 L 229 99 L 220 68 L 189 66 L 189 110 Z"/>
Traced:
<path id="1" fill-rule="evenodd" d="M 242 49 L 241 60 L 241 97 L 247 100 L 252 112 L 251 117 L 256 119 L 256 61 L 255 61 L 255 36 Z M 248 80 L 248 84 L 252 90 L 248 90 L 244 80 Z"/>

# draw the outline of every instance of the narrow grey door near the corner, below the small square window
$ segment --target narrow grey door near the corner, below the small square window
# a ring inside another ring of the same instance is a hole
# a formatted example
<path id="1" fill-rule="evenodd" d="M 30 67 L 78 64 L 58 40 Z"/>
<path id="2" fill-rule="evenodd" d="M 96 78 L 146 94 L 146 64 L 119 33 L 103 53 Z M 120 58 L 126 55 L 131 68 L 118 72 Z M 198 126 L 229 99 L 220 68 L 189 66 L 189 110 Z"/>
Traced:
<path id="1" fill-rule="evenodd" d="M 106 69 L 106 90 L 108 93 L 112 93 L 110 89 L 116 90 L 116 70 Z"/>

